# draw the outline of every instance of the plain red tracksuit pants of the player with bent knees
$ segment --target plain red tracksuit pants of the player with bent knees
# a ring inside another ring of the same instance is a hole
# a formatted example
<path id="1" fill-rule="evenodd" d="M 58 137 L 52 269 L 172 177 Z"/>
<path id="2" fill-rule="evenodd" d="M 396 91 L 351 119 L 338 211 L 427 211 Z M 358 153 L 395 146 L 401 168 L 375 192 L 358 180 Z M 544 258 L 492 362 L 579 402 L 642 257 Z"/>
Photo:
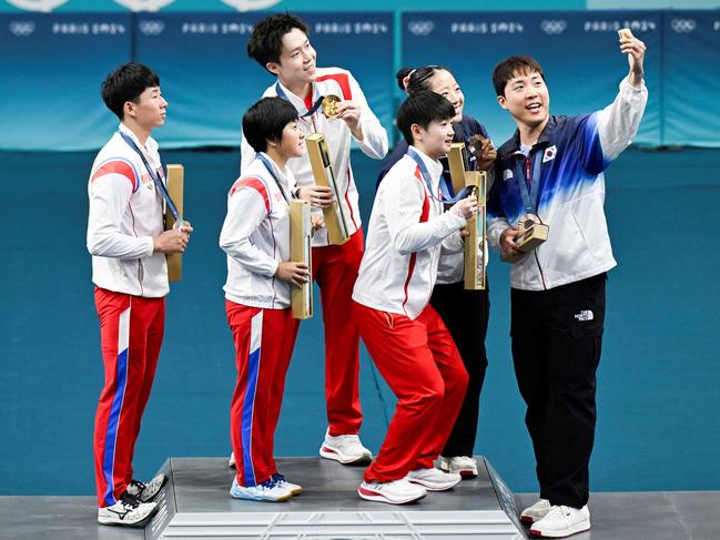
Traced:
<path id="1" fill-rule="evenodd" d="M 434 467 L 467 389 L 467 371 L 440 316 L 416 318 L 354 303 L 361 337 L 397 397 L 395 415 L 365 481 L 388 482 Z"/>

